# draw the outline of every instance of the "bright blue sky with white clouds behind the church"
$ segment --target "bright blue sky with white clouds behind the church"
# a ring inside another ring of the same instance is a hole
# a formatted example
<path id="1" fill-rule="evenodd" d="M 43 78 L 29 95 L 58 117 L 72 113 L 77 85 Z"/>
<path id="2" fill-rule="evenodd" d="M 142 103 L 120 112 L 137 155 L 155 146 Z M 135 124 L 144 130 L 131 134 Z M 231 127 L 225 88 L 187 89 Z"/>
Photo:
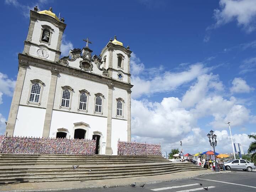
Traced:
<path id="1" fill-rule="evenodd" d="M 0 133 L 35 5 L 65 18 L 62 56 L 86 37 L 97 55 L 114 35 L 130 46 L 133 140 L 167 151 L 182 140 L 185 153 L 196 153 L 209 149 L 213 129 L 217 151 L 228 153 L 228 120 L 247 150 L 256 132 L 255 0 L 2 1 Z"/>

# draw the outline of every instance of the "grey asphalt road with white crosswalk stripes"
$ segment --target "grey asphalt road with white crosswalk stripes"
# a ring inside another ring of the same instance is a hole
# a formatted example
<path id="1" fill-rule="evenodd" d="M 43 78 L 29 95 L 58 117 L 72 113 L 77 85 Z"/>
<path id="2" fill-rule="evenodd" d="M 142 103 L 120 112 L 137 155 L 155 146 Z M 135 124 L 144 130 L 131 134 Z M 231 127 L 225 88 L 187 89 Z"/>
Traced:
<path id="1" fill-rule="evenodd" d="M 203 187 L 208 187 L 208 191 L 213 192 L 252 192 L 256 191 L 256 172 L 232 171 L 228 174 L 211 174 L 196 178 L 182 179 L 177 181 L 146 184 L 144 188 L 115 187 L 98 188 L 86 190 L 69 190 L 62 192 L 189 192 L 206 191 Z M 200 186 L 200 183 L 202 186 Z"/>

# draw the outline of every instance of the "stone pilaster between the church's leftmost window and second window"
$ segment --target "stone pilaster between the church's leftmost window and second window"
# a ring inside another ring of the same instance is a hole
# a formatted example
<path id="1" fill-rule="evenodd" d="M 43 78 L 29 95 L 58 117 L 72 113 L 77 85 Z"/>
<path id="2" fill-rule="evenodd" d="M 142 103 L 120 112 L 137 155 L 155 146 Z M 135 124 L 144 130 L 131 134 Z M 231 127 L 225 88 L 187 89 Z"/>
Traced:
<path id="1" fill-rule="evenodd" d="M 58 74 L 55 71 L 51 71 L 51 80 L 50 80 L 50 87 L 49 87 L 49 94 L 46 106 L 46 114 L 44 117 L 44 127 L 43 127 L 43 135 L 42 137 L 49 137 L 50 134 L 50 124 L 52 122 L 52 111 L 53 111 L 53 103 L 54 103 L 54 96 L 56 90 L 56 83 Z"/>

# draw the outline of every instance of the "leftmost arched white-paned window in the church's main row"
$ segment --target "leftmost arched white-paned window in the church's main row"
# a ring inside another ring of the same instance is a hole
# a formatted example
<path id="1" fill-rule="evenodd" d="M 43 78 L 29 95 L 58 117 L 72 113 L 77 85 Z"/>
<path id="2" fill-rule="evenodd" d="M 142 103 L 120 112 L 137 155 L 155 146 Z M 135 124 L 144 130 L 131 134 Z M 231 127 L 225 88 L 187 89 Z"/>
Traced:
<path id="1" fill-rule="evenodd" d="M 44 83 L 39 79 L 30 80 L 27 104 L 41 105 Z"/>

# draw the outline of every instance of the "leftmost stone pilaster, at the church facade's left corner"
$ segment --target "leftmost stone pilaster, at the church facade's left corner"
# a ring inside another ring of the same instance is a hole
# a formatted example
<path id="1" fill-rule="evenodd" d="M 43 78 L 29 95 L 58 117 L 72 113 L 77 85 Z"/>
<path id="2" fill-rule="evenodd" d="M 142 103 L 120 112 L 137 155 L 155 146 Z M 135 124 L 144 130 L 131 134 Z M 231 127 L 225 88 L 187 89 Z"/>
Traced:
<path id="1" fill-rule="evenodd" d="M 23 84 L 26 76 L 27 67 L 28 65 L 26 64 L 19 65 L 17 81 L 15 85 L 14 94 L 12 96 L 11 108 L 10 108 L 9 117 L 8 117 L 6 130 L 5 130 L 5 134 L 7 133 L 7 135 L 12 136 L 14 133 L 14 127 L 17 119 L 18 107 L 20 104 L 20 98 L 21 98 Z"/>

